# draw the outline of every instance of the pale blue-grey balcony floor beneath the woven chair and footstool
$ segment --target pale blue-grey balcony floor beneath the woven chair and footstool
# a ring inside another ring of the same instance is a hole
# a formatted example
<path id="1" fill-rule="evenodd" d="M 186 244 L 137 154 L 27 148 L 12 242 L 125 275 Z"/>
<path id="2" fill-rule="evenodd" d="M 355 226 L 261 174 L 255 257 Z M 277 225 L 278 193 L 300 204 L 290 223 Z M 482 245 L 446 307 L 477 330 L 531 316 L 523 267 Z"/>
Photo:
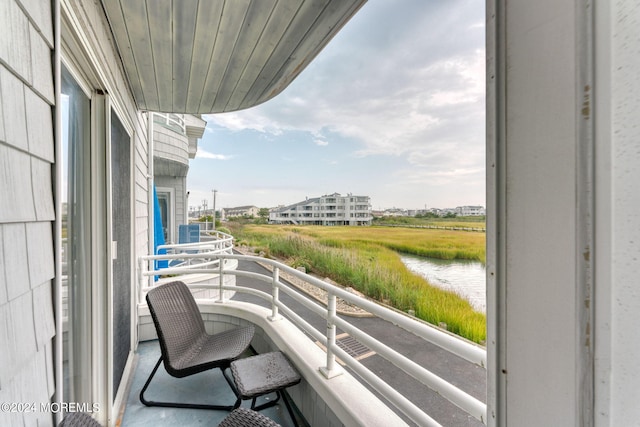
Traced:
<path id="1" fill-rule="evenodd" d="M 119 425 L 123 427 L 163 427 L 163 426 L 217 426 L 229 412 L 208 409 L 183 409 L 147 407 L 140 402 L 139 394 L 151 370 L 160 357 L 158 341 L 145 341 L 138 345 L 135 372 L 129 387 L 124 414 Z M 230 374 L 230 372 L 228 372 Z M 180 401 L 186 403 L 205 403 L 233 405 L 236 398 L 219 369 L 213 369 L 185 378 L 173 378 L 160 367 L 151 385 L 145 393 L 149 400 Z M 266 398 L 275 398 L 275 395 Z M 261 398 L 263 399 L 263 398 Z M 258 403 L 263 402 L 259 400 Z M 250 407 L 251 401 L 242 402 Z M 277 406 L 260 411 L 282 427 L 292 427 L 293 422 L 286 406 L 280 402 Z M 307 423 L 298 415 L 298 424 Z"/>

